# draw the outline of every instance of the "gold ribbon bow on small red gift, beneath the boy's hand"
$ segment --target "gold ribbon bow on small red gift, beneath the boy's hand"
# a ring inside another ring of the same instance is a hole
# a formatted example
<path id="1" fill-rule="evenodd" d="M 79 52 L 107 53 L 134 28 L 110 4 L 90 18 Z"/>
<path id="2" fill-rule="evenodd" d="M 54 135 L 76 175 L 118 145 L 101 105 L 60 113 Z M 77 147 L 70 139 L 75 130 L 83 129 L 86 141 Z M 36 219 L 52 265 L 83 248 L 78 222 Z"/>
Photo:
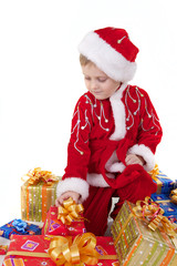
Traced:
<path id="1" fill-rule="evenodd" d="M 70 197 L 63 202 L 63 206 L 58 207 L 58 219 L 63 224 L 70 225 L 72 221 L 79 221 L 83 217 L 80 215 L 84 211 L 82 204 L 75 204 L 75 202 Z"/>

